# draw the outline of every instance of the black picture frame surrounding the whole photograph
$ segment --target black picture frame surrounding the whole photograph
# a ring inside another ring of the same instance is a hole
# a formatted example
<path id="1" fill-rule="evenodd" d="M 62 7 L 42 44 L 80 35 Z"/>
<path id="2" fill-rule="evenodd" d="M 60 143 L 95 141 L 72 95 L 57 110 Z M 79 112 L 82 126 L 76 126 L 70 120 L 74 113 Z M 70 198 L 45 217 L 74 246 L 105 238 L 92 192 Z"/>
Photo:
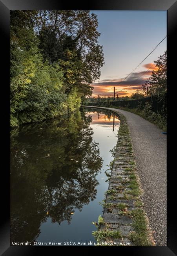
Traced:
<path id="1" fill-rule="evenodd" d="M 176 240 L 176 211 L 174 204 L 176 199 L 176 182 L 173 179 L 175 168 L 170 168 L 170 163 L 175 162 L 175 151 L 170 150 L 174 144 L 175 131 L 173 131 L 172 119 L 175 117 L 175 62 L 177 59 L 177 1 L 176 0 L 98 0 L 89 2 L 59 2 L 57 0 L 0 0 L 0 29 L 1 29 L 1 95 L 5 99 L 1 100 L 2 117 L 2 137 L 5 138 L 1 160 L 1 181 L 5 187 L 1 186 L 1 225 L 0 225 L 0 253 L 3 256 L 9 255 L 34 255 L 42 254 L 42 250 L 59 249 L 60 247 L 15 247 L 9 246 L 9 12 L 11 9 L 91 9 L 91 10 L 167 10 L 168 13 L 168 246 L 167 247 L 75 247 L 79 254 L 99 253 L 100 250 L 109 250 L 112 253 L 130 253 L 136 256 L 172 256 L 177 254 Z M 2 92 L 2 89 L 4 90 Z M 172 113 L 172 115 L 171 115 Z M 172 119 L 171 119 L 172 117 Z M 174 120 L 174 119 L 173 119 Z M 175 144 L 176 145 L 176 144 Z M 172 152 L 173 151 L 173 152 Z M 40 248 L 40 249 L 39 249 Z M 65 247 L 66 250 L 68 247 Z M 71 247 L 70 247 L 71 249 Z M 72 247 L 73 250 L 73 247 Z M 58 252 L 61 250 L 59 249 Z"/>

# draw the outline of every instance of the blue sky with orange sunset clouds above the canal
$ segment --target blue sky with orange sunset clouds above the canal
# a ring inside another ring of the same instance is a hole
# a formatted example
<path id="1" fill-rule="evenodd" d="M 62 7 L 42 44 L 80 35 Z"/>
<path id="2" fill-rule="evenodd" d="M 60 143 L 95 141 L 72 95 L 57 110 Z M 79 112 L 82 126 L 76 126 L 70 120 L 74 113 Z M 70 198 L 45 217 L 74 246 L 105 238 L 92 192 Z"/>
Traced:
<path id="1" fill-rule="evenodd" d="M 92 84 L 92 96 L 113 96 L 113 86 L 116 92 L 124 89 L 119 96 L 131 95 L 142 88 L 152 70 L 157 70 L 154 61 L 167 50 L 166 38 L 150 54 L 167 35 L 167 11 L 91 10 L 91 13 L 97 15 L 99 44 L 103 46 L 105 62 L 100 79 Z M 119 85 L 148 54 L 150 56 Z"/>

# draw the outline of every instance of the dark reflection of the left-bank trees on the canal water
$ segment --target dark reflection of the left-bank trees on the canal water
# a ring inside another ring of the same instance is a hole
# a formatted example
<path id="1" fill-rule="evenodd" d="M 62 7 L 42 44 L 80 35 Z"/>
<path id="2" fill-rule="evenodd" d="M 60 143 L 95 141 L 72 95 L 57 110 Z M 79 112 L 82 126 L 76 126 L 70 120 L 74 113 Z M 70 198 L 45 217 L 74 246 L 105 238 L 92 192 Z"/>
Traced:
<path id="1" fill-rule="evenodd" d="M 75 208 L 95 199 L 102 159 L 90 122 L 78 112 L 13 131 L 11 241 L 36 239 L 48 216 L 70 223 Z"/>

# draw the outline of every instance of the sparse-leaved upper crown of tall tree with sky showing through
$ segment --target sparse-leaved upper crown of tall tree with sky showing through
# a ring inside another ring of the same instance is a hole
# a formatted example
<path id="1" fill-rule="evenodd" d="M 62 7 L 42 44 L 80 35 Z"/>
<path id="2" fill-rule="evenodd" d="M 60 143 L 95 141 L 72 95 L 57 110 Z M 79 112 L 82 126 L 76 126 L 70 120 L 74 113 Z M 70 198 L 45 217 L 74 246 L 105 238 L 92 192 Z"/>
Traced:
<path id="1" fill-rule="evenodd" d="M 63 50 L 67 48 L 71 51 L 77 50 L 78 59 L 83 63 L 81 82 L 92 83 L 100 77 L 100 67 L 104 64 L 104 56 L 102 46 L 98 44 L 100 33 L 97 31 L 98 20 L 95 14 L 90 14 L 88 10 L 40 10 L 33 23 L 41 41 L 44 41 L 44 38 L 42 39 L 44 31 L 49 28 L 48 36 L 56 35 L 60 50 L 62 48 Z M 67 40 L 74 46 L 73 49 L 69 48 Z M 48 42 L 47 48 L 49 48 L 51 42 L 48 39 L 45 42 Z M 58 57 L 61 56 L 58 55 Z"/>

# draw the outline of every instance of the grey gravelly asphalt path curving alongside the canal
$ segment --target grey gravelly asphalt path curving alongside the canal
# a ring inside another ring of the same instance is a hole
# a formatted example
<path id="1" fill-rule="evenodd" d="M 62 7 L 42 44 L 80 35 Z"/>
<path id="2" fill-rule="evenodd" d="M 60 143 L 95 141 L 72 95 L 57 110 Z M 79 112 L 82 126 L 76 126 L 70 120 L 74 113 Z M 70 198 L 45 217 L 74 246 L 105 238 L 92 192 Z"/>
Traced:
<path id="1" fill-rule="evenodd" d="M 167 135 L 162 134 L 162 130 L 151 122 L 131 112 L 117 108 L 104 109 L 120 112 L 126 118 L 137 173 L 144 191 L 143 207 L 156 246 L 167 246 Z"/>

